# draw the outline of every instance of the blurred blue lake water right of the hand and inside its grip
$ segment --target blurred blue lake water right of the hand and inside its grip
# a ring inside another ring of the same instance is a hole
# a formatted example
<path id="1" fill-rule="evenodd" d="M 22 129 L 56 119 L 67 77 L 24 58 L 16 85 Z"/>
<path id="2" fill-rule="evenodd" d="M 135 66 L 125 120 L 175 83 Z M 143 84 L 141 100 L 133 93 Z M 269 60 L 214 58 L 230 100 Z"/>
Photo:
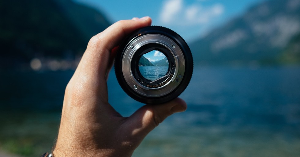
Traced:
<path id="1" fill-rule="evenodd" d="M 114 82 L 110 102 L 129 116 L 143 104 Z M 300 156 L 300 67 L 195 67 L 179 97 L 186 112 L 154 129 L 134 157 Z"/>

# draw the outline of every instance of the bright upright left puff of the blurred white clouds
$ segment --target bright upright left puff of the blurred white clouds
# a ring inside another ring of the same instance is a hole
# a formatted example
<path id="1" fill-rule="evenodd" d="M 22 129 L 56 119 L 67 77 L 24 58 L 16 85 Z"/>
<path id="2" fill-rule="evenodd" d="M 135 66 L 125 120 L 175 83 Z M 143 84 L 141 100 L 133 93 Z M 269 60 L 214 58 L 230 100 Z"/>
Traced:
<path id="1" fill-rule="evenodd" d="M 162 12 L 160 13 L 160 20 L 163 23 L 172 21 L 176 14 L 182 9 L 182 0 L 168 0 L 163 4 Z"/>

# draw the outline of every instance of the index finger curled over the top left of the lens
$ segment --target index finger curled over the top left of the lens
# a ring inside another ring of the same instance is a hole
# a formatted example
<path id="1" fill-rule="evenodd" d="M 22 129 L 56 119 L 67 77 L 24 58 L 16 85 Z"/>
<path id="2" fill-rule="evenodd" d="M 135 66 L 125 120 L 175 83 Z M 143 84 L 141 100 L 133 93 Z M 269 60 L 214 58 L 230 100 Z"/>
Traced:
<path id="1" fill-rule="evenodd" d="M 122 20 L 114 23 L 103 32 L 93 36 L 82 56 L 81 69 L 89 76 L 97 76 L 105 79 L 109 64 L 111 50 L 136 29 L 151 25 L 150 17 L 138 20 Z"/>

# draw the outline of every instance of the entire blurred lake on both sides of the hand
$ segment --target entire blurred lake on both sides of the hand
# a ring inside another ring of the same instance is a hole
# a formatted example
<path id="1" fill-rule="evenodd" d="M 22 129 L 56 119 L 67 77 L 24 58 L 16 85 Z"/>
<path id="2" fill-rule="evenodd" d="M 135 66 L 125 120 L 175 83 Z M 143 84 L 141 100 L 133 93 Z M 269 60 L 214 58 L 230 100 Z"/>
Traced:
<path id="1" fill-rule="evenodd" d="M 2 73 L 0 147 L 24 156 L 50 151 L 73 71 Z M 194 67 L 179 96 L 186 112 L 159 124 L 133 157 L 299 157 L 300 67 Z M 109 102 L 123 116 L 143 104 L 114 71 Z M 115 99 L 118 98 L 118 99 Z"/>

